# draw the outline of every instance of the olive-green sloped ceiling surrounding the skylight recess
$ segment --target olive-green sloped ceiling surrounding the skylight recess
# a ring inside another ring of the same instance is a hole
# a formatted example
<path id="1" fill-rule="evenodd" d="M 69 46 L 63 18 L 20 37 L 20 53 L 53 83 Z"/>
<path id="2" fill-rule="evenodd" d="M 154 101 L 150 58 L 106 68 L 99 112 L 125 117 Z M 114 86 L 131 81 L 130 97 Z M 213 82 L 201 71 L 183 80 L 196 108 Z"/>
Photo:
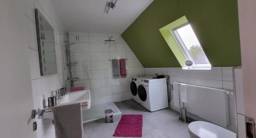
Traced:
<path id="1" fill-rule="evenodd" d="M 159 29 L 184 15 L 211 66 L 241 66 L 237 0 L 155 0 L 121 36 L 144 67 L 180 67 Z"/>

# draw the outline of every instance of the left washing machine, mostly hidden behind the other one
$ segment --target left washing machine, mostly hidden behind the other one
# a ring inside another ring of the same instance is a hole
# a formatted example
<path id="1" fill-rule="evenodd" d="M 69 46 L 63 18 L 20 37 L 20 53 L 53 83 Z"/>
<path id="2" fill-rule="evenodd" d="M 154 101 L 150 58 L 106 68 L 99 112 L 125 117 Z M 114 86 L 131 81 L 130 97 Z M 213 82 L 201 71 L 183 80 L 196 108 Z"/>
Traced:
<path id="1" fill-rule="evenodd" d="M 136 77 L 130 78 L 130 92 L 131 97 L 136 102 L 139 102 L 139 96 L 138 96 L 138 86 L 139 86 L 139 79 Z"/>

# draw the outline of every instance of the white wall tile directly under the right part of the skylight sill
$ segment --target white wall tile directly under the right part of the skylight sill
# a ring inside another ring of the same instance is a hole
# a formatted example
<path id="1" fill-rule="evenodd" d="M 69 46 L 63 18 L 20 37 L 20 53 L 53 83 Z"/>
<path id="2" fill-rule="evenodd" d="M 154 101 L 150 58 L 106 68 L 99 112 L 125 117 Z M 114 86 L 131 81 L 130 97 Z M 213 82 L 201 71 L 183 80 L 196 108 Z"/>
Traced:
<path id="1" fill-rule="evenodd" d="M 188 70 L 188 77 L 222 80 L 221 67 L 211 67 L 211 70 Z"/>

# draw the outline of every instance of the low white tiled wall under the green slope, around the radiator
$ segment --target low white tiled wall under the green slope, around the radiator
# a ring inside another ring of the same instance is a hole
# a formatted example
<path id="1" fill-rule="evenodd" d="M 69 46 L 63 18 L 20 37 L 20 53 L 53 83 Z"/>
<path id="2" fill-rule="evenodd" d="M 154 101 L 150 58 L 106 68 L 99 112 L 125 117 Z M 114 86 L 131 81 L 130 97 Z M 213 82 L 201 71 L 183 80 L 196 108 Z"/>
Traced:
<path id="1" fill-rule="evenodd" d="M 233 92 L 233 73 L 232 67 L 212 67 L 211 70 L 182 70 L 182 68 L 144 68 L 145 75 L 169 75 L 170 84 L 182 82 L 185 84 L 206 86 L 211 88 L 224 89 Z M 171 91 L 173 98 L 173 91 Z M 173 99 L 170 106 L 175 108 Z M 228 129 L 236 132 L 236 114 L 234 97 L 228 97 L 229 106 L 229 127 Z"/>

